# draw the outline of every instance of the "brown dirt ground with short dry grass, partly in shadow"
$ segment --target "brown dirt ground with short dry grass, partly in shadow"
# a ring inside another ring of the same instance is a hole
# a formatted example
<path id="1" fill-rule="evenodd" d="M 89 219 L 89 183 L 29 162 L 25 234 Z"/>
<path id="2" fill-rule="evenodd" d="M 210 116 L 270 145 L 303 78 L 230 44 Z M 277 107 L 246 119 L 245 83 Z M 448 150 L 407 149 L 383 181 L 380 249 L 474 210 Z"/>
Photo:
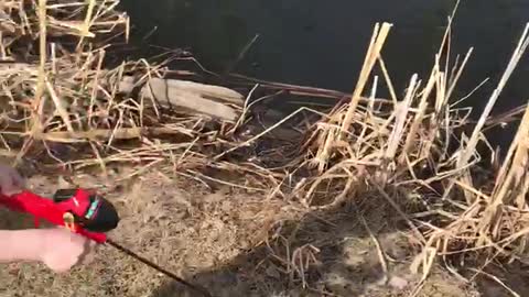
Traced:
<path id="1" fill-rule="evenodd" d="M 72 180 L 100 188 L 117 206 L 121 222 L 109 233 L 116 242 L 214 296 L 409 296 L 419 282 L 409 272 L 417 252 L 412 241 L 384 207 L 361 211 L 366 228 L 352 206 L 302 215 L 259 194 L 229 187 L 212 193 L 159 169 L 123 178 L 128 172 Z M 29 185 L 42 195 L 71 186 L 42 175 Z M 31 226 L 30 218 L 0 216 L 9 228 Z M 377 241 L 387 255 L 388 282 Z M 94 263 L 63 275 L 34 263 L 2 264 L 0 279 L 1 297 L 198 296 L 110 246 L 100 246 Z M 509 296 L 494 284 L 483 289 L 438 267 L 417 296 Z"/>

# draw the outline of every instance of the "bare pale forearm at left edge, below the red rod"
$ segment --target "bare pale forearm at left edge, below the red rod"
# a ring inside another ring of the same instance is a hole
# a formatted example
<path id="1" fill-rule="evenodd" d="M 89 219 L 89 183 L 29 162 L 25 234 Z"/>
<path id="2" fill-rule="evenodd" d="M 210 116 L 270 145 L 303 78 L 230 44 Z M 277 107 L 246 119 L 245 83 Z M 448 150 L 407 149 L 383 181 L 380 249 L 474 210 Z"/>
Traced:
<path id="1" fill-rule="evenodd" d="M 0 262 L 39 261 L 42 230 L 0 230 Z"/>

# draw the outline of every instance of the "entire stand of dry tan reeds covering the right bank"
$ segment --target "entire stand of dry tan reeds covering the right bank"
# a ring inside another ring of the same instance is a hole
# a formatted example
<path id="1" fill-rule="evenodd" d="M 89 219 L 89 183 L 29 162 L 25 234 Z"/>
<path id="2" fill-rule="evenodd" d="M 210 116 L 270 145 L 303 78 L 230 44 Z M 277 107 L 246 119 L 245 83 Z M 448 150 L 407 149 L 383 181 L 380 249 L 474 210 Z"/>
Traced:
<path id="1" fill-rule="evenodd" d="M 310 208 L 331 208 L 373 191 L 384 197 L 423 248 L 412 265 L 423 277 L 436 256 L 478 252 L 486 255 L 479 261 L 484 264 L 498 255 L 516 258 L 525 252 L 529 232 L 529 109 L 495 180 L 483 182 L 475 174 L 487 153 L 477 148 L 487 144 L 484 127 L 529 44 L 527 29 L 475 123 L 469 108 L 457 107 L 464 98 L 453 98 L 473 50 L 451 65 L 451 20 L 430 76 L 422 81 L 413 75 L 401 97 L 381 55 L 391 24 L 377 24 L 350 100 L 322 116 L 301 150 L 303 156 L 292 165 L 295 172 L 312 173 L 293 185 Z M 381 79 L 373 75 L 377 65 Z M 377 98 L 380 80 L 390 100 Z M 462 132 L 468 127 L 471 135 Z M 422 200 L 424 207 L 411 216 L 396 194 Z"/>

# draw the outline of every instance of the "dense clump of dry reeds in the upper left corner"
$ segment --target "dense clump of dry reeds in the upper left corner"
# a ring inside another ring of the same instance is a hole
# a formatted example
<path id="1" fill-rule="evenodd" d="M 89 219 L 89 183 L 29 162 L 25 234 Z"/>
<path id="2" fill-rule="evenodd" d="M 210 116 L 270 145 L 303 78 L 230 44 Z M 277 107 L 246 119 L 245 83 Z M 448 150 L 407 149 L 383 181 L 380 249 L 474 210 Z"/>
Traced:
<path id="1" fill-rule="evenodd" d="M 2 2 L 0 81 L 7 130 L 18 128 L 24 136 L 45 139 L 47 132 L 63 128 L 72 133 L 86 129 L 82 125 L 93 128 L 99 94 L 106 91 L 100 80 L 108 75 L 101 68 L 105 47 L 94 50 L 94 37 L 127 33 L 128 19 L 114 10 L 117 4 Z M 109 101 L 107 113 L 115 106 Z"/>

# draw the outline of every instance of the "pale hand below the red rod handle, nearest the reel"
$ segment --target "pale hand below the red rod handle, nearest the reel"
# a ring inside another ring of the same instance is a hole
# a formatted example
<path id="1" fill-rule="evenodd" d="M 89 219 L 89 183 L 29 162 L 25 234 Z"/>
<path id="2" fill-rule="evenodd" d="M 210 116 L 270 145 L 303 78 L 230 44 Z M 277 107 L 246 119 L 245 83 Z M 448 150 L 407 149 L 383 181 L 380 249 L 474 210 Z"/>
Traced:
<path id="1" fill-rule="evenodd" d="M 66 272 L 76 264 L 93 260 L 96 242 L 64 228 L 39 230 L 42 232 L 41 261 L 56 273 Z"/>

